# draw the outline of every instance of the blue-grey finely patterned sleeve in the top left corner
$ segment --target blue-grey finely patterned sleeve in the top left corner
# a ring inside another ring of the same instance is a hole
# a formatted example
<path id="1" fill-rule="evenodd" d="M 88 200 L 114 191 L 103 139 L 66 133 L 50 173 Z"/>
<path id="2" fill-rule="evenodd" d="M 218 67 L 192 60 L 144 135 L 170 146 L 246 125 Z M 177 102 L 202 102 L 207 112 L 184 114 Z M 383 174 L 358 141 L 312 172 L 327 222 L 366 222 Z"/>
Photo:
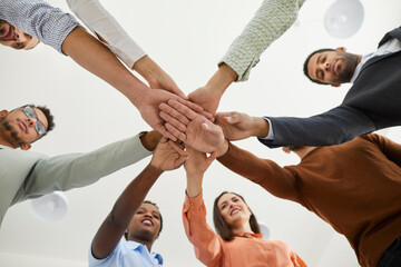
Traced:
<path id="1" fill-rule="evenodd" d="M 62 53 L 67 36 L 79 23 L 72 16 L 42 0 L 0 0 L 0 19 Z"/>

